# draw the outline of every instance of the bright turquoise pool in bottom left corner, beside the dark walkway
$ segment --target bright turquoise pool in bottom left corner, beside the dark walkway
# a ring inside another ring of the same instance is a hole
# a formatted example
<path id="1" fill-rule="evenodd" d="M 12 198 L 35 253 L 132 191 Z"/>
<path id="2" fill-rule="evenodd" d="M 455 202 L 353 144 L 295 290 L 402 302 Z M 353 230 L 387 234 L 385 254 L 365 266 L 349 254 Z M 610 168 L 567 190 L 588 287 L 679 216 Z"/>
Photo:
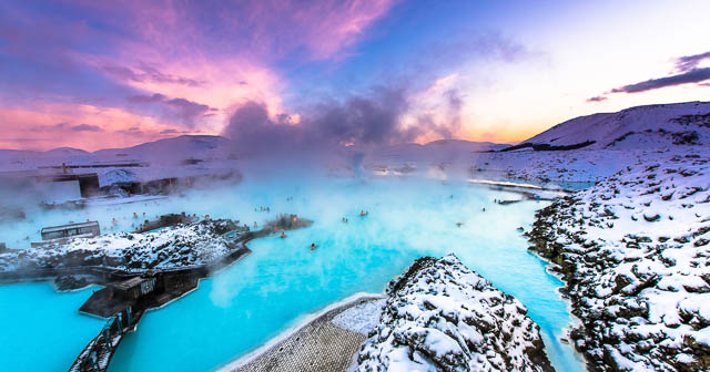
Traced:
<path id="1" fill-rule="evenodd" d="M 49 283 L 0 286 L 0 371 L 65 371 L 105 321 L 78 309 L 94 289 L 57 293 Z"/>

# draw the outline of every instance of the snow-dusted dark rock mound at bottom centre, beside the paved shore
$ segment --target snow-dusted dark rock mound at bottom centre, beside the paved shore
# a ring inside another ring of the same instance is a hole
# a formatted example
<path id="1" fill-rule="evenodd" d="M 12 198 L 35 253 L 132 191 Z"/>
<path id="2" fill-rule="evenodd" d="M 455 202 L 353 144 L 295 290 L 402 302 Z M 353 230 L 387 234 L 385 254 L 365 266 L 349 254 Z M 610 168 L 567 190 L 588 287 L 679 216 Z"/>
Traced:
<path id="1" fill-rule="evenodd" d="M 354 371 L 554 371 L 527 309 L 454 255 L 416 260 L 387 293 Z"/>

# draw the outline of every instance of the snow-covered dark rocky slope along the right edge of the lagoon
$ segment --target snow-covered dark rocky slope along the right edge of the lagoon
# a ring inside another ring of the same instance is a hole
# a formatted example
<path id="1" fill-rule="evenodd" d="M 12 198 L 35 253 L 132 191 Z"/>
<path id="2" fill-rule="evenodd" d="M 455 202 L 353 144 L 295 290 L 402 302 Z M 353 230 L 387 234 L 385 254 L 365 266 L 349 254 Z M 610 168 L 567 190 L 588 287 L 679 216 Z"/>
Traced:
<path id="1" fill-rule="evenodd" d="M 541 209 L 592 370 L 710 370 L 710 156 L 657 154 Z"/>

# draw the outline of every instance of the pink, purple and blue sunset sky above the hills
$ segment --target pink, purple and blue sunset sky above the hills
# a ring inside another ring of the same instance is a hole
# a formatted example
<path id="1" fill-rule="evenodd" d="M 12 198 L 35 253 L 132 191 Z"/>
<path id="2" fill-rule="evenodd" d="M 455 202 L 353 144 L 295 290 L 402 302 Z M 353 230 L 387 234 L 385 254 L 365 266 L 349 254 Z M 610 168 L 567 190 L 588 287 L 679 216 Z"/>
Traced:
<path id="1" fill-rule="evenodd" d="M 0 2 L 0 148 L 516 143 L 710 101 L 710 1 Z"/>

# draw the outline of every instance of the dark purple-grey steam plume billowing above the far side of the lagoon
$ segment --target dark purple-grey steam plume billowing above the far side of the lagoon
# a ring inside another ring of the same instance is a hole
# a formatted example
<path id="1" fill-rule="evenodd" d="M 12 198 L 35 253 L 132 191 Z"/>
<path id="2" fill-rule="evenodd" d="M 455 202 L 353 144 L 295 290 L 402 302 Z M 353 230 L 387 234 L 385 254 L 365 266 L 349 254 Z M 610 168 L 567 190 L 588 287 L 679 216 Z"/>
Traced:
<path id="1" fill-rule="evenodd" d="M 271 117 L 263 103 L 248 101 L 230 117 L 223 135 L 240 151 L 251 155 L 323 153 L 346 145 L 367 148 L 412 143 L 427 136 L 449 138 L 460 127 L 463 97 L 456 90 L 445 92 L 446 118 L 437 123 L 420 114 L 405 124 L 409 113 L 408 90 L 375 87 L 369 95 L 355 95 L 344 102 L 322 102 L 297 123 L 287 115 Z"/>

